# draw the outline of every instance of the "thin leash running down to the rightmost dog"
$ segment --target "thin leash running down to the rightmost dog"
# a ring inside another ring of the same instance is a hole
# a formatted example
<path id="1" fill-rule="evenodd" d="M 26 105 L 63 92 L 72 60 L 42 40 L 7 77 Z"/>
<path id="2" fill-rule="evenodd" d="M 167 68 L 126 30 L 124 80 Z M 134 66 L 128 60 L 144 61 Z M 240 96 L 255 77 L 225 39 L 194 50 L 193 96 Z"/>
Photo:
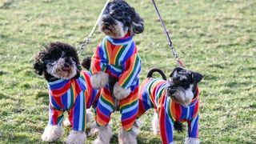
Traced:
<path id="1" fill-rule="evenodd" d="M 161 14 L 159 13 L 158 6 L 155 4 L 154 0 L 152 0 L 152 2 L 153 2 L 155 11 L 158 14 L 158 18 L 162 24 L 164 34 L 166 34 L 166 38 L 167 38 L 167 41 L 169 42 L 170 50 L 173 52 L 174 59 L 176 60 L 178 66 L 185 67 L 184 63 L 182 62 L 182 60 L 180 58 L 178 58 L 178 54 L 174 50 L 174 44 L 173 44 L 173 42 L 171 42 L 170 34 L 169 34 L 168 30 L 166 29 L 165 23 L 162 21 L 162 17 L 161 17 Z"/>

